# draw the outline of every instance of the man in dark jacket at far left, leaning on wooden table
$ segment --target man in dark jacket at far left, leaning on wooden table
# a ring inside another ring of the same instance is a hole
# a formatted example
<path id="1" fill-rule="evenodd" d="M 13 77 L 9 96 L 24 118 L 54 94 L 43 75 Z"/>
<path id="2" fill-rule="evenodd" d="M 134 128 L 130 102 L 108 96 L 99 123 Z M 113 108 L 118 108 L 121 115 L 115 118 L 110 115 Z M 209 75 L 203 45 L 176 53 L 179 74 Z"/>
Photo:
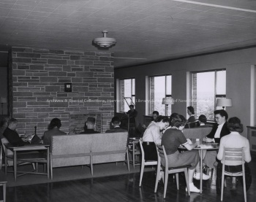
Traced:
<path id="1" fill-rule="evenodd" d="M 18 133 L 15 131 L 18 125 L 18 120 L 11 118 L 8 123 L 8 127 L 4 131 L 4 137 L 14 146 L 23 146 L 25 144 L 40 144 L 41 139 L 37 135 L 34 135 L 33 139 L 29 141 L 26 138 L 20 138 Z"/>

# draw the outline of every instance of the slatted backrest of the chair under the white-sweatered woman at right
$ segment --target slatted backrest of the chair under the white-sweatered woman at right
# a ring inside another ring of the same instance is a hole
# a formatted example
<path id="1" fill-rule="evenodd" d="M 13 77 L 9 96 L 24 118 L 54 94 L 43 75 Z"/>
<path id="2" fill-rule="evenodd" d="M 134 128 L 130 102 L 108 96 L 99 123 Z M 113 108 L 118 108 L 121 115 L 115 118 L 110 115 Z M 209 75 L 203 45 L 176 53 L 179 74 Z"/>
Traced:
<path id="1" fill-rule="evenodd" d="M 243 148 L 227 148 L 224 147 L 223 151 L 223 165 L 228 162 L 236 162 L 236 165 L 244 166 L 244 147 Z M 232 165 L 232 164 L 231 164 Z"/>

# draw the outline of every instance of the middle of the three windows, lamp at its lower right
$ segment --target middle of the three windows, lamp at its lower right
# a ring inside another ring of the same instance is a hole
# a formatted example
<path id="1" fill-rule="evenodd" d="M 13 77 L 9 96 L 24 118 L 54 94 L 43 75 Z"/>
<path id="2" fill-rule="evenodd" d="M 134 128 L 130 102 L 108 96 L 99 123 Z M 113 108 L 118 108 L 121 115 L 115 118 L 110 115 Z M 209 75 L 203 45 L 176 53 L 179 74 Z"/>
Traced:
<path id="1" fill-rule="evenodd" d="M 149 78 L 149 114 L 158 111 L 160 115 L 165 115 L 165 105 L 162 104 L 162 98 L 172 96 L 172 76 L 165 75 Z M 168 106 L 167 114 L 170 115 L 171 106 Z"/>

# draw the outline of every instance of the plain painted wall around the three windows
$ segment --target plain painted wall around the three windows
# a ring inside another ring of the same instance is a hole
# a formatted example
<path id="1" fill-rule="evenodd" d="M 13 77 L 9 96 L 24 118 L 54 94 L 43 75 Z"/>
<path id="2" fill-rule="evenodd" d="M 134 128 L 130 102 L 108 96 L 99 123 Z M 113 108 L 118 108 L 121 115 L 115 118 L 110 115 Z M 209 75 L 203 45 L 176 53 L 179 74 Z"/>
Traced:
<path id="1" fill-rule="evenodd" d="M 146 98 L 146 76 L 161 74 L 172 74 L 172 96 L 173 98 L 187 100 L 187 72 L 207 71 L 214 69 L 227 70 L 227 98 L 233 99 L 233 107 L 227 108 L 227 113 L 238 116 L 244 123 L 246 136 L 246 125 L 250 124 L 250 72 L 251 65 L 256 64 L 256 48 L 233 50 L 224 53 L 195 56 L 173 61 L 133 66 L 123 69 L 115 69 L 115 79 L 135 77 L 135 92 L 137 99 Z M 172 112 L 187 115 L 187 102 L 173 104 Z M 138 110 L 138 122 L 143 123 L 143 114 L 146 114 L 146 104 L 136 104 Z"/>

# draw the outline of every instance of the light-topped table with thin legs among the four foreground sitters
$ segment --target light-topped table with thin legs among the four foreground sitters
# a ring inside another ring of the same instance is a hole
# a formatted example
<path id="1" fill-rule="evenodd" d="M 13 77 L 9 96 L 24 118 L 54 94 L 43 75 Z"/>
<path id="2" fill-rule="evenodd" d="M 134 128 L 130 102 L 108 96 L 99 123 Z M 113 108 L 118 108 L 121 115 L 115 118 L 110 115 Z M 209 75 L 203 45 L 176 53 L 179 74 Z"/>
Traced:
<path id="1" fill-rule="evenodd" d="M 195 142 L 195 141 L 192 141 Z M 186 149 L 186 147 L 178 147 L 179 149 Z M 219 144 L 203 142 L 200 139 L 200 144 L 193 150 L 200 150 L 200 193 L 203 191 L 203 151 L 206 150 L 217 150 L 219 149 Z"/>

